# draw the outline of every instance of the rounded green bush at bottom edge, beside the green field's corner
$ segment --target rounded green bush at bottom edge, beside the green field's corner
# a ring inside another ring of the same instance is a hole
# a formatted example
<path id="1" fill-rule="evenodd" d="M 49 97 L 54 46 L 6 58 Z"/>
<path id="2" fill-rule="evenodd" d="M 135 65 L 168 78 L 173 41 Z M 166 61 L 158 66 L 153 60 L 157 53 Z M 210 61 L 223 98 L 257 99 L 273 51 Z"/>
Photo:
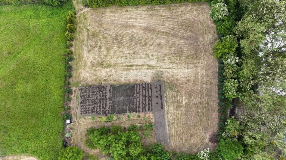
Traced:
<path id="1" fill-rule="evenodd" d="M 83 155 L 82 149 L 76 146 L 69 146 L 61 150 L 58 160 L 81 160 Z"/>

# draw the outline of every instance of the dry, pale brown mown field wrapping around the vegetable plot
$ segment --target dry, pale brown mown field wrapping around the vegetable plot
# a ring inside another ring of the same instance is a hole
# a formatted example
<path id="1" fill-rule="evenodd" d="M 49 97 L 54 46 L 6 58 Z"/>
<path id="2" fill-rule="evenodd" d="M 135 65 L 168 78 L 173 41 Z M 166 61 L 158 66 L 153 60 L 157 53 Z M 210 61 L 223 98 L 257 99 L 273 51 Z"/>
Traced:
<path id="1" fill-rule="evenodd" d="M 77 15 L 73 86 L 164 81 L 170 150 L 214 148 L 215 25 L 207 3 L 87 9 Z"/>

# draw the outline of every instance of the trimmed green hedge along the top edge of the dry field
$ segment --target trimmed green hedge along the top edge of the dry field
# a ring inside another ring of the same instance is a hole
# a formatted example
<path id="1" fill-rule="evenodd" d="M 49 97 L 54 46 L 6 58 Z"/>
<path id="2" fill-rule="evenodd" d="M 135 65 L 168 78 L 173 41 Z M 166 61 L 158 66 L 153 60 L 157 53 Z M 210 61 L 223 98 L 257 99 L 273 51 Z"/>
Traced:
<path id="1" fill-rule="evenodd" d="M 183 2 L 207 2 L 209 0 L 87 0 L 88 6 L 91 8 L 98 7 L 110 7 L 116 5 L 121 6 L 136 6 L 136 5 L 160 5 L 160 4 L 172 4 Z"/>

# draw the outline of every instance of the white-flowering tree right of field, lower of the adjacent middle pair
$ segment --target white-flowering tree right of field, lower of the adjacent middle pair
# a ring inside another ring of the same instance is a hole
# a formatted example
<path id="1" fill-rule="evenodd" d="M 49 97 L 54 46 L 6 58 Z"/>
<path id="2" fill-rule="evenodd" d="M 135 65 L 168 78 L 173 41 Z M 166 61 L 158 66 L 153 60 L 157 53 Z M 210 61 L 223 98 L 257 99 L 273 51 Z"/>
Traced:
<path id="1" fill-rule="evenodd" d="M 223 90 L 225 91 L 225 98 L 233 99 L 238 97 L 237 93 L 238 81 L 234 79 L 227 79 L 224 82 Z"/>

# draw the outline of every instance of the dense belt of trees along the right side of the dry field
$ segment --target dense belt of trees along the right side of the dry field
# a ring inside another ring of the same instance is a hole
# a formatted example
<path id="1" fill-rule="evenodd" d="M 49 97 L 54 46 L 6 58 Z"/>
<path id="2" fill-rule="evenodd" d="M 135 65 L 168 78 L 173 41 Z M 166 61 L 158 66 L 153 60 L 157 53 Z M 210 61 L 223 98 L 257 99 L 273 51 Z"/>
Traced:
<path id="1" fill-rule="evenodd" d="M 216 151 L 224 159 L 285 159 L 286 101 L 278 94 L 286 89 L 286 1 L 214 0 L 211 6 L 220 39 L 213 52 L 224 64 L 219 81 L 226 98 L 246 106 L 220 126 Z M 225 142 L 241 144 L 239 156 L 225 154 Z"/>

